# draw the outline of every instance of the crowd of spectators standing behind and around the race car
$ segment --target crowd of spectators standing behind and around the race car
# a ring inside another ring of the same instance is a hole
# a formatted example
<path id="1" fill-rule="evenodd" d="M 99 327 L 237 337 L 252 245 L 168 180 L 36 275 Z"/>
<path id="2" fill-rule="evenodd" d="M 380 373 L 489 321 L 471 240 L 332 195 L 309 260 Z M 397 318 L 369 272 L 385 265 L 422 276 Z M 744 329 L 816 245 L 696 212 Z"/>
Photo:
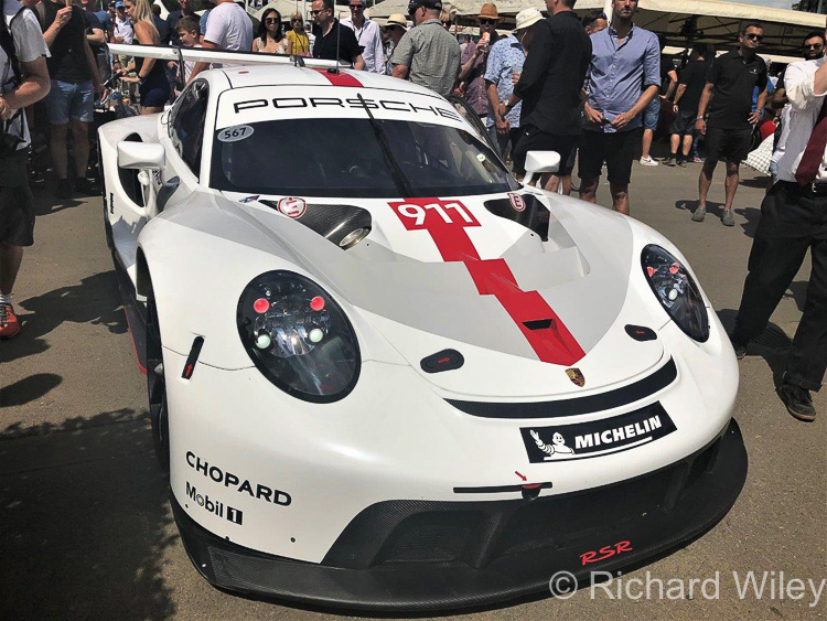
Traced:
<path id="1" fill-rule="evenodd" d="M 516 176 L 525 174 L 529 151 L 556 151 L 559 168 L 541 175 L 543 188 L 570 193 L 577 164 L 579 195 L 594 203 L 605 170 L 612 208 L 623 214 L 631 211 L 633 163 L 658 165 L 651 148 L 666 113 L 673 120 L 664 164 L 701 161 L 698 141 L 705 142 L 692 221 L 704 222 L 716 167 L 726 163 L 726 226 L 734 224 L 739 165 L 764 108 L 781 110 L 770 114 L 771 131 L 777 128 L 773 183 L 762 205 L 732 341 L 743 355 L 809 250 L 807 302 L 778 394 L 794 416 L 815 417 L 809 390 L 820 387 L 827 365 L 825 33 L 806 38 L 804 62 L 790 66 L 771 96 L 774 83 L 756 53 L 760 23 L 747 24 L 738 46 L 720 56 L 696 45 L 677 63 L 663 54 L 663 39 L 635 25 L 637 0 L 612 0 L 611 23 L 601 11 L 579 19 L 577 0 L 546 0 L 547 17 L 525 9 L 507 35 L 498 32 L 503 19 L 496 4 L 486 2 L 477 15 L 479 39 L 462 42 L 450 32 L 452 18 L 441 0 L 410 0 L 412 28 L 404 14 L 378 25 L 365 17 L 365 0 L 350 0 L 351 17 L 341 21 L 333 0 L 313 0 L 312 32 L 301 13 L 287 22 L 277 9 L 262 7 L 255 33 L 250 15 L 234 0 L 211 0 L 213 8 L 201 15 L 192 0 L 179 0 L 180 8 L 165 20 L 149 0 L 115 0 L 97 11 L 95 0 L 79 0 L 79 6 L 0 1 L 0 339 L 20 330 L 11 291 L 23 248 L 33 243 L 26 178 L 30 125 L 39 122 L 33 104 L 44 103 L 55 194 L 67 199 L 93 191 L 89 129 L 95 101 L 110 77 L 133 83 L 141 114 L 154 114 L 211 66 L 110 57 L 106 43 L 293 54 L 340 60 L 444 97 L 459 95 L 487 128 L 492 148 L 512 161 Z"/>

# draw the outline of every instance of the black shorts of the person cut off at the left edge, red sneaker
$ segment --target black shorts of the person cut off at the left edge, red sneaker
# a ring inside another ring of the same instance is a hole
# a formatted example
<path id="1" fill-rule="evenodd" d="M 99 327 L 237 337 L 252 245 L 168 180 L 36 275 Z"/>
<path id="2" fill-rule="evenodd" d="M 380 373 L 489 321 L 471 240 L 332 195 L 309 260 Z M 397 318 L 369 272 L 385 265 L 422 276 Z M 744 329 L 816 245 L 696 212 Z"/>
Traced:
<path id="1" fill-rule="evenodd" d="M 0 244 L 34 244 L 34 202 L 25 170 L 29 149 L 0 158 Z"/>

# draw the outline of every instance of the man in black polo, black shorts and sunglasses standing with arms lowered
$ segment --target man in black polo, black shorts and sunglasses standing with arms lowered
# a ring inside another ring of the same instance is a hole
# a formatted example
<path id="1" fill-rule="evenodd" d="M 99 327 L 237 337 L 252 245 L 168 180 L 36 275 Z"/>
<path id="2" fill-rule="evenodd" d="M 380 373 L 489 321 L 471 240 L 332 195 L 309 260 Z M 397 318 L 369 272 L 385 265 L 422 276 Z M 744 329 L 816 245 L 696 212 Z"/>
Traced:
<path id="1" fill-rule="evenodd" d="M 696 129 L 706 136 L 707 161 L 698 180 L 699 202 L 692 221 L 704 222 L 707 215 L 707 193 L 712 184 L 712 173 L 718 161 L 727 162 L 726 203 L 721 223 L 734 226 L 732 201 L 738 190 L 738 167 L 747 159 L 752 141 L 752 130 L 759 121 L 766 100 L 766 63 L 755 54 L 764 39 L 761 24 L 749 24 L 739 39 L 739 46 L 712 62 L 707 85 L 698 105 Z M 752 110 L 752 94 L 759 88 L 756 111 Z M 712 97 L 712 104 L 709 99 Z M 709 108 L 709 121 L 704 119 Z"/>

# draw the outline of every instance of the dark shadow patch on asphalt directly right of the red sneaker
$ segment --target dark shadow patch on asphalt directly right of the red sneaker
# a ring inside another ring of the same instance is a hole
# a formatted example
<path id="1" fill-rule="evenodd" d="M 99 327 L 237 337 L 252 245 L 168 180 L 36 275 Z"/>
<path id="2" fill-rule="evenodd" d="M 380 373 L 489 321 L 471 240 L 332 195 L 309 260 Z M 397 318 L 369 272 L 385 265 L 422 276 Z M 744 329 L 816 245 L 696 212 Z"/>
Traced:
<path id="1" fill-rule="evenodd" d="M 115 270 L 101 271 L 78 285 L 61 287 L 42 296 L 15 303 L 21 321 L 20 334 L 0 345 L 0 361 L 11 362 L 49 349 L 43 336 L 62 323 L 104 325 L 114 334 L 127 332 Z"/>

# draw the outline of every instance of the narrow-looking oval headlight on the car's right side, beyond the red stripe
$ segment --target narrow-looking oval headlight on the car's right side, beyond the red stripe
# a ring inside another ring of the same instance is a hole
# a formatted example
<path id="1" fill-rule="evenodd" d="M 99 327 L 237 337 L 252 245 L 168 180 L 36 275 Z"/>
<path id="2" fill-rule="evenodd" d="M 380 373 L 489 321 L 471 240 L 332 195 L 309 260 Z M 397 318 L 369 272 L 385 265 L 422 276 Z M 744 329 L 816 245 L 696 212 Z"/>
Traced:
<path id="1" fill-rule="evenodd" d="M 660 246 L 641 254 L 646 280 L 660 306 L 684 332 L 701 343 L 709 339 L 709 318 L 698 286 L 678 259 Z"/>

